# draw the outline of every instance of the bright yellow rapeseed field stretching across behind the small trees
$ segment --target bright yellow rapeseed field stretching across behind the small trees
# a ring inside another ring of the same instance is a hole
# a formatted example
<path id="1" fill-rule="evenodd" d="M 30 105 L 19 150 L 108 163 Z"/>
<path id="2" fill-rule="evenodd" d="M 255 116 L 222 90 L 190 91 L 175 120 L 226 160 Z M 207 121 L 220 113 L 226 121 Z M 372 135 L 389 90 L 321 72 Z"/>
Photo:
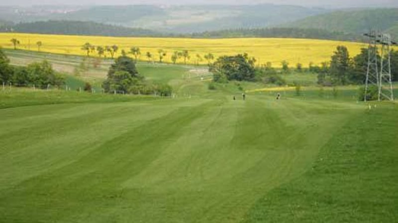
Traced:
<path id="1" fill-rule="evenodd" d="M 167 51 L 165 62 L 171 62 L 171 55 L 174 51 L 188 50 L 191 59 L 189 63 L 197 62 L 197 54 L 203 57 L 207 53 L 212 53 L 215 57 L 222 55 L 234 55 L 248 53 L 255 57 L 257 64 L 271 62 L 272 66 L 280 67 L 281 62 L 286 60 L 290 66 L 301 63 L 307 67 L 310 62 L 320 64 L 329 61 L 330 56 L 338 45 L 347 46 L 351 56 L 360 52 L 363 43 L 340 42 L 329 40 L 311 39 L 285 39 L 285 38 L 236 38 L 236 39 L 188 39 L 188 38 L 130 38 L 130 37 L 101 37 L 101 36 L 66 36 L 66 35 L 42 35 L 42 34 L 21 34 L 21 33 L 0 33 L 0 46 L 3 48 L 13 48 L 11 39 L 16 38 L 20 41 L 19 49 L 37 51 L 36 42 L 41 41 L 42 52 L 86 55 L 81 50 L 86 42 L 95 46 L 117 45 L 120 55 L 121 49 L 126 52 L 131 47 L 139 47 L 141 50 L 140 60 L 146 61 L 146 52 L 153 55 L 153 60 L 157 61 L 159 56 L 157 51 L 163 49 Z M 94 54 L 93 54 L 94 55 Z M 116 55 L 116 56 L 117 56 Z M 109 57 L 109 55 L 107 55 Z M 179 59 L 178 63 L 183 63 Z M 203 59 L 200 64 L 205 64 Z"/>

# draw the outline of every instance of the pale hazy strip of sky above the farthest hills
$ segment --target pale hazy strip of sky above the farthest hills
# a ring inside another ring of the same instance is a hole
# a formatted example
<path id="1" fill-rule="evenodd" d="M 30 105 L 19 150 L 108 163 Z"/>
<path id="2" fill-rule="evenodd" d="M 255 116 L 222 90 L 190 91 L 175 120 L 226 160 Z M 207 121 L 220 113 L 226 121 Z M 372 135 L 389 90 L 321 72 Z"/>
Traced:
<path id="1" fill-rule="evenodd" d="M 398 0 L 0 0 L 0 5 L 32 4 L 295 4 L 304 6 L 358 7 L 380 6 L 398 7 Z"/>

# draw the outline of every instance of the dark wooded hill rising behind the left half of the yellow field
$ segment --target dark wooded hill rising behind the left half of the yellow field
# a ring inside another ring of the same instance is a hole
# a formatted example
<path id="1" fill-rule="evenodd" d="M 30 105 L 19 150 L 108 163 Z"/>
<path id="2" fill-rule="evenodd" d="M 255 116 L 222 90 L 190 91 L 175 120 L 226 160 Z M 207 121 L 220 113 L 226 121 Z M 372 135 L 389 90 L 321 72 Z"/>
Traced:
<path id="1" fill-rule="evenodd" d="M 147 29 L 128 28 L 101 24 L 90 21 L 38 21 L 30 23 L 19 23 L 8 27 L 9 31 L 20 33 L 41 33 L 41 34 L 65 34 L 65 35 L 88 35 L 88 36 L 159 36 L 160 34 Z"/>

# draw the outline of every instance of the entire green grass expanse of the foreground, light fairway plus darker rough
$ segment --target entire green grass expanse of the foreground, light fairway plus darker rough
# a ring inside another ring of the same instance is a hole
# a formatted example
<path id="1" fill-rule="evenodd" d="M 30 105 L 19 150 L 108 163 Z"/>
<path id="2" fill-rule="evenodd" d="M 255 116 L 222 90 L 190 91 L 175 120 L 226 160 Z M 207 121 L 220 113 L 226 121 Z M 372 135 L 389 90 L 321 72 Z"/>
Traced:
<path id="1" fill-rule="evenodd" d="M 396 221 L 397 104 L 181 83 L 1 92 L 0 222 Z"/>

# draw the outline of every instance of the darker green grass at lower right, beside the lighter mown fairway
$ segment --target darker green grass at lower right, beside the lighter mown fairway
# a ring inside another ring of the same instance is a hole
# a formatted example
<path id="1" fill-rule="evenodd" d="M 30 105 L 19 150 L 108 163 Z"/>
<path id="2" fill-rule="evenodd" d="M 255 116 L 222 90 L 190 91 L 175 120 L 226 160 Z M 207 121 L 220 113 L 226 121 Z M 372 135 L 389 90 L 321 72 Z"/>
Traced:
<path id="1" fill-rule="evenodd" d="M 266 194 L 242 222 L 396 222 L 397 108 L 378 104 L 354 116 L 305 174 Z"/>

